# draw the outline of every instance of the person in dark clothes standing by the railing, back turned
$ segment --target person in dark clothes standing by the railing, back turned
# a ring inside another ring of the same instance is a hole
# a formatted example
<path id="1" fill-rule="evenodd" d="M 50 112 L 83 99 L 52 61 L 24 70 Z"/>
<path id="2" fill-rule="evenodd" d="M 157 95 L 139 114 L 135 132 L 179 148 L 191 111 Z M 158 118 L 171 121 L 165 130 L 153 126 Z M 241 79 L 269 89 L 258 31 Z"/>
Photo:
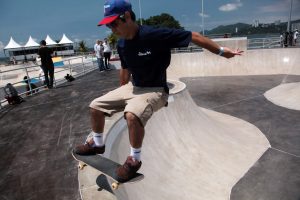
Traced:
<path id="1" fill-rule="evenodd" d="M 45 84 L 49 89 L 53 88 L 54 79 L 54 64 L 52 61 L 53 50 L 46 47 L 46 41 L 40 42 L 41 47 L 39 48 L 38 55 L 41 58 L 41 68 L 45 76 Z"/>

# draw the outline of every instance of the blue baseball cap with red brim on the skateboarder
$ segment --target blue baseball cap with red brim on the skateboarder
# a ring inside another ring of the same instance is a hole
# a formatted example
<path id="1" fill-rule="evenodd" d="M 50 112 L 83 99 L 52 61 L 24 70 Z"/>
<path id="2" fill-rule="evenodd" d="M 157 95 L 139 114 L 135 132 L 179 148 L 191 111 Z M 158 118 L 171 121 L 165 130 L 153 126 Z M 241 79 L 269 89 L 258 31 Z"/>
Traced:
<path id="1" fill-rule="evenodd" d="M 132 9 L 129 0 L 106 0 L 104 3 L 104 18 L 98 26 L 109 24 L 116 20 L 121 14 Z"/>

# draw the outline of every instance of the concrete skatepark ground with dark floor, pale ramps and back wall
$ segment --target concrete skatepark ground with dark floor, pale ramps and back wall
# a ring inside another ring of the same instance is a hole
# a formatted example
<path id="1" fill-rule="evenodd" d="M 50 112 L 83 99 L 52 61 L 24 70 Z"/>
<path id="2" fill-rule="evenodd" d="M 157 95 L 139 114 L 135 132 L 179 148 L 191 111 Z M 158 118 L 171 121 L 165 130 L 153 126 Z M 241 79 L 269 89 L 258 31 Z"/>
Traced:
<path id="1" fill-rule="evenodd" d="M 169 105 L 145 127 L 145 179 L 116 191 L 70 152 L 89 133 L 89 102 L 118 87 L 117 70 L 1 111 L 0 199 L 298 200 L 300 48 L 247 50 L 246 41 L 218 41 L 245 51 L 232 59 L 172 54 Z M 105 156 L 122 163 L 122 113 L 106 124 Z"/>

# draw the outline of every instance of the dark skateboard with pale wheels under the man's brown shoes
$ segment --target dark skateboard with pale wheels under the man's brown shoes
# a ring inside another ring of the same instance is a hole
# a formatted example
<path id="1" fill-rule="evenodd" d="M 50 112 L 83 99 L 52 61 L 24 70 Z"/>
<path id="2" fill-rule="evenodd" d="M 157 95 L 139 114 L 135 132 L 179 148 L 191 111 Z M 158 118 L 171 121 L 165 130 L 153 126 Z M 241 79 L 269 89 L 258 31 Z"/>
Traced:
<path id="1" fill-rule="evenodd" d="M 108 158 L 100 155 L 78 155 L 72 151 L 72 156 L 75 160 L 79 161 L 78 168 L 83 170 L 85 166 L 89 165 L 96 170 L 102 172 L 106 177 L 113 180 L 111 187 L 113 190 L 117 190 L 121 184 L 125 183 L 135 183 L 141 181 L 144 178 L 143 174 L 136 173 L 135 176 L 127 181 L 119 181 L 116 175 L 116 169 L 121 165 Z"/>

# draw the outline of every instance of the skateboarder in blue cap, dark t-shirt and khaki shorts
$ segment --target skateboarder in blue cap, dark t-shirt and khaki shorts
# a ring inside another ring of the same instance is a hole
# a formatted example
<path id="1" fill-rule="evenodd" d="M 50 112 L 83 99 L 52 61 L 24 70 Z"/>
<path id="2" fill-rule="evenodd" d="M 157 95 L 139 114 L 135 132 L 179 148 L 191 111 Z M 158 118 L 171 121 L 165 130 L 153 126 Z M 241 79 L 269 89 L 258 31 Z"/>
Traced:
<path id="1" fill-rule="evenodd" d="M 167 104 L 169 89 L 166 69 L 170 64 L 170 49 L 187 47 L 193 42 L 225 58 L 241 55 L 242 51 L 220 47 L 198 32 L 140 26 L 135 21 L 128 0 L 105 1 L 104 19 L 98 25 L 106 25 L 120 38 L 117 48 L 122 65 L 121 87 L 91 102 L 93 138 L 77 146 L 74 152 L 80 155 L 103 154 L 104 118 L 123 111 L 128 125 L 131 153 L 116 173 L 126 180 L 142 165 L 141 148 L 147 121 L 155 111 Z"/>

